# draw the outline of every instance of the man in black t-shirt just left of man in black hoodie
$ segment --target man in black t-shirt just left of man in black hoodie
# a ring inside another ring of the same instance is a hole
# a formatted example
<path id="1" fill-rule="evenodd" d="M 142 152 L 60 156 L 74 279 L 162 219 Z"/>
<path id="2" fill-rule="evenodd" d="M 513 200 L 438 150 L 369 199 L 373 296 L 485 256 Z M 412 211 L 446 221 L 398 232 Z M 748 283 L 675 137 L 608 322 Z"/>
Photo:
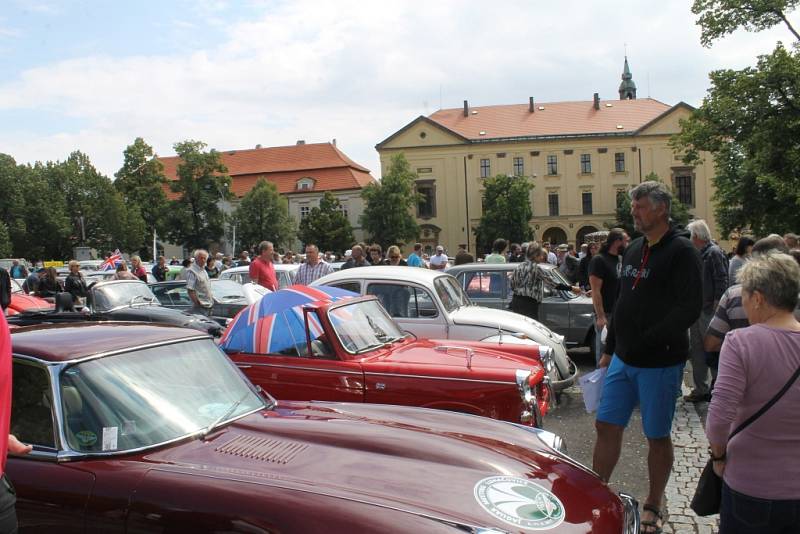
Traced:
<path id="1" fill-rule="evenodd" d="M 589 286 L 592 288 L 592 305 L 594 306 L 594 344 L 595 363 L 600 362 L 603 354 L 601 334 L 614 312 L 619 290 L 620 258 L 628 246 L 630 238 L 622 228 L 614 228 L 608 232 L 606 242 L 600 252 L 589 261 Z"/>

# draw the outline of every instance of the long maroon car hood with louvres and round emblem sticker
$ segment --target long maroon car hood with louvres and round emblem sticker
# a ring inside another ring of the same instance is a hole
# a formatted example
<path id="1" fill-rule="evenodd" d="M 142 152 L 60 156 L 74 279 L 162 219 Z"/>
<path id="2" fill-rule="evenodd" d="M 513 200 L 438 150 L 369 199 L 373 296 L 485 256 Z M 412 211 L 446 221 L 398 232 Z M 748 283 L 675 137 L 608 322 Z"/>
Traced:
<path id="1" fill-rule="evenodd" d="M 528 512 L 550 528 L 560 524 L 559 532 L 622 530 L 620 499 L 529 430 L 438 410 L 286 402 L 148 460 L 160 470 L 239 480 L 251 492 L 277 485 L 342 507 L 369 503 L 376 513 L 390 507 L 519 531 L 500 516 Z"/>

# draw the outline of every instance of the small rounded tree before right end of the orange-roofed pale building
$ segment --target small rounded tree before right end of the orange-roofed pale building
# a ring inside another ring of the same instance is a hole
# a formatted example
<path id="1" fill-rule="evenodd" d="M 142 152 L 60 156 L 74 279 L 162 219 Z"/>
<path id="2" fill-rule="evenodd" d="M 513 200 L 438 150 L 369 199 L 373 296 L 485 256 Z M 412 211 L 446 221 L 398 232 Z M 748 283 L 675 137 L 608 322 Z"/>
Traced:
<path id="1" fill-rule="evenodd" d="M 353 227 L 342 211 L 342 205 L 330 191 L 319 201 L 319 207 L 300 221 L 298 237 L 303 243 L 314 243 L 320 250 L 341 252 L 355 241 Z"/>

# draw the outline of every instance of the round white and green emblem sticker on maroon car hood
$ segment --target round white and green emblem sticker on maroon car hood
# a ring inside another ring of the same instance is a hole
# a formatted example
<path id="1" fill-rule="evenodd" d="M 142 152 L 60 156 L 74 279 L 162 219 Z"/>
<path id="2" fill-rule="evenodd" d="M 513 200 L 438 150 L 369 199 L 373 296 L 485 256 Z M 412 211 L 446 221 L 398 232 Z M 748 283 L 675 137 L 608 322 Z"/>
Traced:
<path id="1" fill-rule="evenodd" d="M 510 525 L 549 530 L 564 521 L 564 505 L 558 497 L 530 480 L 489 477 L 475 484 L 474 491 L 484 510 Z"/>

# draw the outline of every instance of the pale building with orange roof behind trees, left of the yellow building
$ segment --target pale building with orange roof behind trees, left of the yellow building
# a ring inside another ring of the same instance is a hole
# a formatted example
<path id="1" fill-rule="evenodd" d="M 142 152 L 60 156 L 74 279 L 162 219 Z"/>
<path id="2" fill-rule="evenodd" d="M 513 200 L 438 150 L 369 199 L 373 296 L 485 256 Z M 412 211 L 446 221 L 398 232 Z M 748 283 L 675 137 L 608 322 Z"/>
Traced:
<path id="1" fill-rule="evenodd" d="M 309 144 L 298 141 L 296 145 L 267 148 L 258 145 L 253 149 L 226 150 L 220 154 L 231 177 L 231 192 L 236 197 L 233 203 L 224 206 L 226 211 L 233 211 L 256 182 L 265 178 L 274 183 L 278 193 L 286 198 L 289 214 L 299 224 L 311 208 L 319 206 L 325 191 L 331 191 L 341 202 L 356 239 L 363 239 L 358 222 L 364 211 L 361 190 L 375 179 L 369 169 L 339 150 L 335 140 Z M 176 180 L 180 158 L 159 159 L 164 164 L 167 178 Z M 301 243 L 296 241 L 290 248 L 299 250 L 300 247 Z"/>

